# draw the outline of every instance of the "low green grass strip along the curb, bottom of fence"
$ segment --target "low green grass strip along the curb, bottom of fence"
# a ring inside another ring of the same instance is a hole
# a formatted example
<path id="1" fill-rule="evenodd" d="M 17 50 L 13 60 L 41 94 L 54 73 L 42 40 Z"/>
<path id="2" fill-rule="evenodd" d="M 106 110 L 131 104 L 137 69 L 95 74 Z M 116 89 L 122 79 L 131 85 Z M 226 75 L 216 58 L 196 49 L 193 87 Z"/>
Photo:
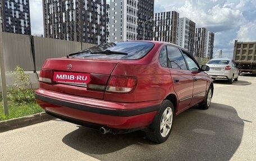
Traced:
<path id="1" fill-rule="evenodd" d="M 9 116 L 5 116 L 3 112 L 2 100 L 0 100 L 0 103 L 0 121 L 29 116 L 30 114 L 40 113 L 44 111 L 41 107 L 39 107 L 38 104 L 36 104 L 35 101 L 22 104 L 15 104 L 11 101 L 8 101 Z"/>

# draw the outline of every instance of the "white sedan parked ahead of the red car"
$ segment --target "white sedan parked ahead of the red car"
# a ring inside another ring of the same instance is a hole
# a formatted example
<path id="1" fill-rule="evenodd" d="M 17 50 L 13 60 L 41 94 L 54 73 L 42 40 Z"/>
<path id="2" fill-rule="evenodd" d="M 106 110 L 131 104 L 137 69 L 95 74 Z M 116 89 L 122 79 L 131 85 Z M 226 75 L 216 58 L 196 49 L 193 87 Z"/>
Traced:
<path id="1" fill-rule="evenodd" d="M 238 80 L 239 69 L 236 68 L 232 59 L 211 59 L 206 65 L 210 67 L 207 73 L 213 80 L 227 79 L 229 84 L 232 84 L 234 80 Z"/>

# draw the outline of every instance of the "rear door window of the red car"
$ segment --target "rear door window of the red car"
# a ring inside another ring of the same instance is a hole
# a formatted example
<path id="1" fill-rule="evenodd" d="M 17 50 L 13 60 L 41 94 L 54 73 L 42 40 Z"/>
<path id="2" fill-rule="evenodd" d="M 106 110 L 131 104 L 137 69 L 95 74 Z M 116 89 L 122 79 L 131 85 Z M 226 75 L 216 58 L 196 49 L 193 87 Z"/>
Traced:
<path id="1" fill-rule="evenodd" d="M 185 60 L 178 48 L 167 46 L 167 63 L 171 68 L 187 70 Z"/>

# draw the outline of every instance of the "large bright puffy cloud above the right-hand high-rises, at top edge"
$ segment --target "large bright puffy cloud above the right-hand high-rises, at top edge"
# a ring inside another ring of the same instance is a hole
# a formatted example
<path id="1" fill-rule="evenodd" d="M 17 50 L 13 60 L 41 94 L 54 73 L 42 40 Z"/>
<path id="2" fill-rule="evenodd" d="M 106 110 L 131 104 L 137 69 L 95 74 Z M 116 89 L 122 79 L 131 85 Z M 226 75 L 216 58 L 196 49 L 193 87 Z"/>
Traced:
<path id="1" fill-rule="evenodd" d="M 245 22 L 243 13 L 234 3 L 223 1 L 185 1 L 183 6 L 172 9 L 179 12 L 180 17 L 194 21 L 196 27 L 206 27 L 213 32 L 229 30 Z"/>

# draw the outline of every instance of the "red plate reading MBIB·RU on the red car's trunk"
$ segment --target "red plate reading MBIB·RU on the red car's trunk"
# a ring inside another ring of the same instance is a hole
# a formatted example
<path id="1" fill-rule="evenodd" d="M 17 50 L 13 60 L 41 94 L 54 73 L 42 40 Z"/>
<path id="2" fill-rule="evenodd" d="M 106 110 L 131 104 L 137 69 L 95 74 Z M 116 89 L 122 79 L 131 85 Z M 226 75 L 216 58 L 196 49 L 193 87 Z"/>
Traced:
<path id="1" fill-rule="evenodd" d="M 72 73 L 72 72 L 54 72 L 53 81 L 86 84 L 90 81 L 90 74 L 89 73 Z"/>

